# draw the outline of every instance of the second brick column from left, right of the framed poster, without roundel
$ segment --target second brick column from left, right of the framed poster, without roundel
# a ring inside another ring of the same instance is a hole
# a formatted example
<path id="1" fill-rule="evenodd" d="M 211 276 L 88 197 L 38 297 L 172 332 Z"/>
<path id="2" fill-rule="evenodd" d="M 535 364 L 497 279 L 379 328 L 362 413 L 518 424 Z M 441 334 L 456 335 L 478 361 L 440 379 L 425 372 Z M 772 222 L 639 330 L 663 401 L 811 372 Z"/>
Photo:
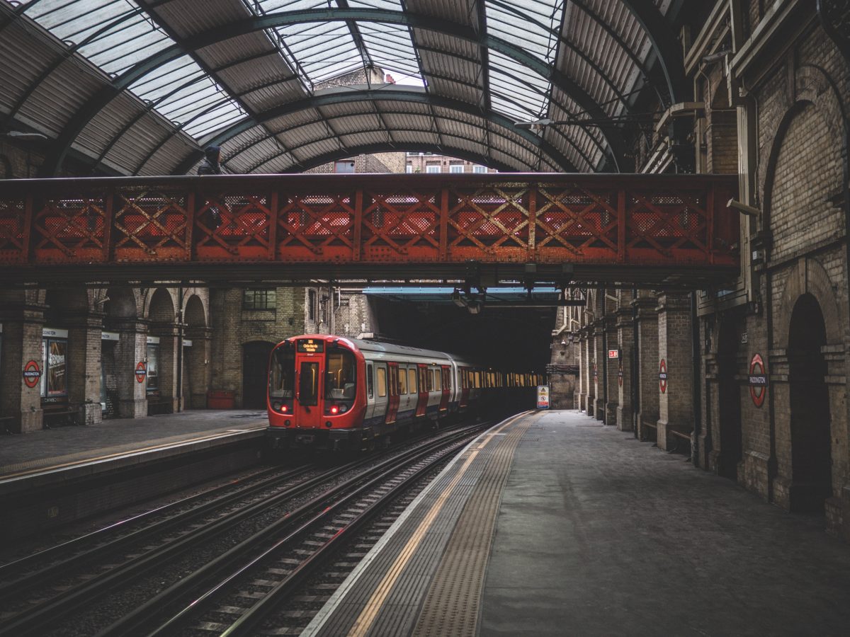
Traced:
<path id="1" fill-rule="evenodd" d="M 77 409 L 81 425 L 99 425 L 100 345 L 104 315 L 100 312 L 71 315 L 68 325 L 68 408 Z"/>

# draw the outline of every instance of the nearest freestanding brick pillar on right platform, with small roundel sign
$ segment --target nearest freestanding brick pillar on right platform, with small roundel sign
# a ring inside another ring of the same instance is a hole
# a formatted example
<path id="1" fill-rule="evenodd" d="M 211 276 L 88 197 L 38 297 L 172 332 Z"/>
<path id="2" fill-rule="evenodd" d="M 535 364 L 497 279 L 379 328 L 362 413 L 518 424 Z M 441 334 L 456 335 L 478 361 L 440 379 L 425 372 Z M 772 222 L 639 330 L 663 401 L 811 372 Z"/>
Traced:
<path id="1" fill-rule="evenodd" d="M 694 366 L 687 295 L 658 297 L 658 356 L 665 362 L 667 376 L 659 396 L 657 442 L 662 449 L 672 449 L 685 442 L 682 436 L 689 437 L 694 426 Z"/>

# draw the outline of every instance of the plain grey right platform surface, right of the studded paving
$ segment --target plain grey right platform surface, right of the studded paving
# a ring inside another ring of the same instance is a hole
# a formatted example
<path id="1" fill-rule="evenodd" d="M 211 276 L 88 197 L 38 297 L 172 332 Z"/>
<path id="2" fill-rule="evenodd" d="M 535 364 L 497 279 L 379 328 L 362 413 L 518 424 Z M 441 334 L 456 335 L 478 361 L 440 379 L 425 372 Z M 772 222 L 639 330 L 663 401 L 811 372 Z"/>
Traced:
<path id="1" fill-rule="evenodd" d="M 584 414 L 545 414 L 514 454 L 479 634 L 847 635 L 850 546 L 823 528 Z"/>

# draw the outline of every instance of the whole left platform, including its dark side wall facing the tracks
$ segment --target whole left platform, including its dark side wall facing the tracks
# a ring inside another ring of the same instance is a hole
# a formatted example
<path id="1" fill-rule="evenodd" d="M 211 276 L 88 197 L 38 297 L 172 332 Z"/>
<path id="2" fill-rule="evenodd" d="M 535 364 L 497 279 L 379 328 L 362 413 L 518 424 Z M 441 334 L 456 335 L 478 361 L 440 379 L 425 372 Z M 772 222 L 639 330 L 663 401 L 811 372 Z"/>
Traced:
<path id="1" fill-rule="evenodd" d="M 198 409 L 0 437 L 0 538 L 91 516 L 257 464 L 268 416 Z"/>

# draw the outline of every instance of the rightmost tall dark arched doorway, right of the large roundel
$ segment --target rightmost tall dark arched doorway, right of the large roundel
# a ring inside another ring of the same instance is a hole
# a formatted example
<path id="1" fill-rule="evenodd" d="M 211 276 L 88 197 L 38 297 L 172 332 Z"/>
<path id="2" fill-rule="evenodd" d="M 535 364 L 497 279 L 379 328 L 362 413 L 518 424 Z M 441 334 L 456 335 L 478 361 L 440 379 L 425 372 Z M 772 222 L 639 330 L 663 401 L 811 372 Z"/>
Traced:
<path id="1" fill-rule="evenodd" d="M 832 493 L 830 403 L 826 387 L 824 315 L 802 295 L 791 313 L 788 381 L 791 398 L 791 510 L 824 512 Z"/>

